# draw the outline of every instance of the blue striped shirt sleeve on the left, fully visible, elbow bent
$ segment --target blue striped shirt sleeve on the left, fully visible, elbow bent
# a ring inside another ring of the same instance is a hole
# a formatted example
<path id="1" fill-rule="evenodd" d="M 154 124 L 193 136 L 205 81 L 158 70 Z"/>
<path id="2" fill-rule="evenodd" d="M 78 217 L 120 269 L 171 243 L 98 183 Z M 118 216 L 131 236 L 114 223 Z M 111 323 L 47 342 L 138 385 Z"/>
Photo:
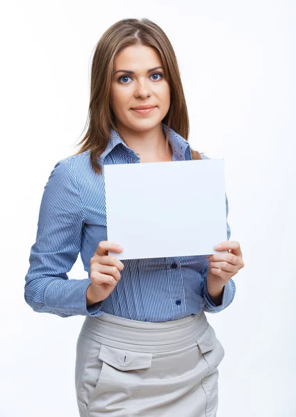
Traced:
<path id="1" fill-rule="evenodd" d="M 69 159 L 56 163 L 44 187 L 24 299 L 34 311 L 60 317 L 99 316 L 102 302 L 87 306 L 91 281 L 68 279 L 81 250 L 83 205 Z"/>

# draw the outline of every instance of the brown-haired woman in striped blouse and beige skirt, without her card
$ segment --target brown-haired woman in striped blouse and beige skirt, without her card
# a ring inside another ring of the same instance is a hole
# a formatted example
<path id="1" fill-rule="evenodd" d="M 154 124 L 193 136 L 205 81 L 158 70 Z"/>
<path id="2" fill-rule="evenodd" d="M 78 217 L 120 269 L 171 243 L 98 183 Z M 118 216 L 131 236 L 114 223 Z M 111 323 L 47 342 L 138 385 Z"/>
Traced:
<path id="1" fill-rule="evenodd" d="M 89 114 L 80 151 L 56 163 L 44 188 L 25 300 L 86 316 L 76 346 L 80 416 L 215 416 L 224 350 L 204 311 L 232 302 L 231 278 L 244 266 L 229 224 L 220 248 L 229 252 L 208 257 L 120 261 L 106 234 L 104 165 L 206 158 L 190 149 L 176 56 L 154 22 L 123 19 L 101 37 Z M 79 252 L 89 278 L 68 279 Z"/>

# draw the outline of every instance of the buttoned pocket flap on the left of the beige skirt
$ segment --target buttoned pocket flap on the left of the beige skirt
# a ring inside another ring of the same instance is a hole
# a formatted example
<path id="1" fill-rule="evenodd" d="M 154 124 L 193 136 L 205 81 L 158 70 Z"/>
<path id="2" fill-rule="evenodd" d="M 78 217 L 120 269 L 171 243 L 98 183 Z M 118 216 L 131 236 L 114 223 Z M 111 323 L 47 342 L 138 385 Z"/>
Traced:
<path id="1" fill-rule="evenodd" d="M 99 359 L 120 370 L 144 369 L 151 367 L 152 353 L 101 345 Z"/>

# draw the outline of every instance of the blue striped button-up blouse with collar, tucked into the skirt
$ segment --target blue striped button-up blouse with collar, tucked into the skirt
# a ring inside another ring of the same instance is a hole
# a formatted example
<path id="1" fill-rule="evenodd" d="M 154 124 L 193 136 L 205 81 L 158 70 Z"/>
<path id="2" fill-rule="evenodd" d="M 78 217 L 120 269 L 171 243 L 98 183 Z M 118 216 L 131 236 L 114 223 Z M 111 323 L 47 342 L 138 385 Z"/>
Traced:
<path id="1" fill-rule="evenodd" d="M 167 126 L 162 126 L 166 134 Z M 172 161 L 192 160 L 188 141 L 173 129 L 170 145 Z M 202 158 L 208 159 L 204 155 Z M 217 313 L 229 306 L 236 292 L 232 279 L 224 287 L 222 304 L 216 306 L 208 295 L 207 255 L 122 260 L 124 270 L 113 292 L 106 300 L 86 305 L 90 258 L 99 242 L 108 240 L 104 165 L 140 163 L 137 154 L 113 129 L 99 159 L 102 174 L 92 169 L 89 151 L 58 161 L 51 171 L 44 186 L 37 236 L 25 277 L 24 299 L 28 305 L 34 311 L 60 317 L 99 316 L 106 312 L 151 322 L 176 320 L 195 315 L 201 309 Z M 225 197 L 227 221 L 226 194 Z M 230 234 L 227 222 L 227 240 Z M 67 272 L 79 252 L 88 278 L 69 279 Z"/>

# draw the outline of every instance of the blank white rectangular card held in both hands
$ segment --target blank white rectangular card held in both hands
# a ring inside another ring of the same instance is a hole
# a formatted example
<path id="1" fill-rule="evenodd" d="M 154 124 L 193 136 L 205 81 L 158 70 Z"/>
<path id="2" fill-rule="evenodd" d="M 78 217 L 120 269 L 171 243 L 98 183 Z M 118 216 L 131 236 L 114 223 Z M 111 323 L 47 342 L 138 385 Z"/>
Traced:
<path id="1" fill-rule="evenodd" d="M 224 159 L 104 165 L 108 241 L 117 259 L 224 253 Z M 226 251 L 227 252 L 227 251 Z"/>

